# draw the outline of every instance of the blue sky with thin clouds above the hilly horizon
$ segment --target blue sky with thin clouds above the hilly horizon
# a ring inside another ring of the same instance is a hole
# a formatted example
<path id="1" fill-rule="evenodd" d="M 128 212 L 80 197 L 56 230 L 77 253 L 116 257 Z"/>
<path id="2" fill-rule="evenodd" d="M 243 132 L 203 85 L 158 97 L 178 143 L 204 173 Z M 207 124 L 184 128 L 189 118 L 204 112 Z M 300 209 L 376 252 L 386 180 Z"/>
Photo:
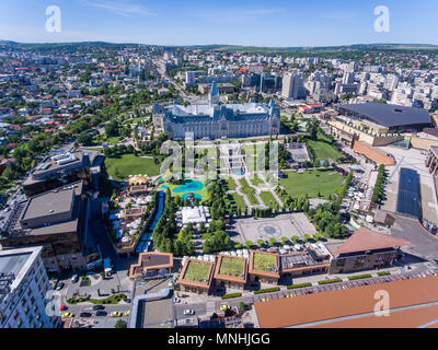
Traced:
<path id="1" fill-rule="evenodd" d="M 45 30 L 48 5 L 61 33 Z M 390 32 L 373 28 L 390 10 Z M 438 44 L 436 0 L 0 0 L 0 39 L 159 45 L 330 46 Z"/>

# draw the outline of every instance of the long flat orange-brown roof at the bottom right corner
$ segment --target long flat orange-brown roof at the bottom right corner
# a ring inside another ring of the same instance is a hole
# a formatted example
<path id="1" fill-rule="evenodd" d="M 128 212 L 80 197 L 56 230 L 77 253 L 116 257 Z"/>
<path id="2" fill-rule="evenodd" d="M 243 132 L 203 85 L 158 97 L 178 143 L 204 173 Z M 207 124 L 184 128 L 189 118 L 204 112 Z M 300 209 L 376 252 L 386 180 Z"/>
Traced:
<path id="1" fill-rule="evenodd" d="M 438 277 L 283 298 L 256 302 L 254 307 L 261 328 L 306 327 L 316 322 L 373 313 L 378 302 L 374 295 L 377 291 L 381 290 L 389 293 L 391 310 L 434 303 L 438 302 Z"/>

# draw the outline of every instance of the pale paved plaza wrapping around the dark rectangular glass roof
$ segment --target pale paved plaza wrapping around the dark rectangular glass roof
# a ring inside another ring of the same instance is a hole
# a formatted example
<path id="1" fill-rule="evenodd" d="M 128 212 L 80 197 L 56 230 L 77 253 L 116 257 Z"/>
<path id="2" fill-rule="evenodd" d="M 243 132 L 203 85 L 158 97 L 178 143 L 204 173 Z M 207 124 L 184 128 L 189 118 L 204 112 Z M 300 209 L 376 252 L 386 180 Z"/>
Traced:
<path id="1" fill-rule="evenodd" d="M 387 186 L 388 199 L 383 203 L 382 209 L 395 212 L 400 168 L 407 167 L 416 171 L 419 175 L 423 217 L 431 222 L 438 222 L 437 194 L 434 178 L 425 165 L 425 152 L 416 149 L 403 150 L 393 147 L 381 147 L 380 149 L 385 153 L 392 154 L 396 161 L 395 165 L 387 166 L 389 172 L 389 184 Z"/>

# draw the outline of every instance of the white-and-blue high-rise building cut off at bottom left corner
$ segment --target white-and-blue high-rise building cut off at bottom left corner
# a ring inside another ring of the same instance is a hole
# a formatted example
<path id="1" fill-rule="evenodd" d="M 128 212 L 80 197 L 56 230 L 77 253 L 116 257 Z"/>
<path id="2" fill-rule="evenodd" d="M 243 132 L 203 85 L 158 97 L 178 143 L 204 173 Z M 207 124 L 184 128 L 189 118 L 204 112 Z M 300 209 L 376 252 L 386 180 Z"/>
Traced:
<path id="1" fill-rule="evenodd" d="M 42 247 L 0 250 L 0 328 L 58 327 L 46 313 L 49 290 Z"/>

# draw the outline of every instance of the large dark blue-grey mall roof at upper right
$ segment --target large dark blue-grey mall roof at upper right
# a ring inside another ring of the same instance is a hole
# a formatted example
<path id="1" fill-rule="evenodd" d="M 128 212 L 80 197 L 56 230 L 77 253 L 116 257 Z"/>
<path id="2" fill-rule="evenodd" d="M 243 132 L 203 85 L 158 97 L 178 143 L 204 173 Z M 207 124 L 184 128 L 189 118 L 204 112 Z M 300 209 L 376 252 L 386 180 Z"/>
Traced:
<path id="1" fill-rule="evenodd" d="M 427 110 L 381 103 L 345 104 L 342 109 L 357 113 L 379 125 L 397 127 L 425 124 L 430 125 L 431 119 Z"/>

